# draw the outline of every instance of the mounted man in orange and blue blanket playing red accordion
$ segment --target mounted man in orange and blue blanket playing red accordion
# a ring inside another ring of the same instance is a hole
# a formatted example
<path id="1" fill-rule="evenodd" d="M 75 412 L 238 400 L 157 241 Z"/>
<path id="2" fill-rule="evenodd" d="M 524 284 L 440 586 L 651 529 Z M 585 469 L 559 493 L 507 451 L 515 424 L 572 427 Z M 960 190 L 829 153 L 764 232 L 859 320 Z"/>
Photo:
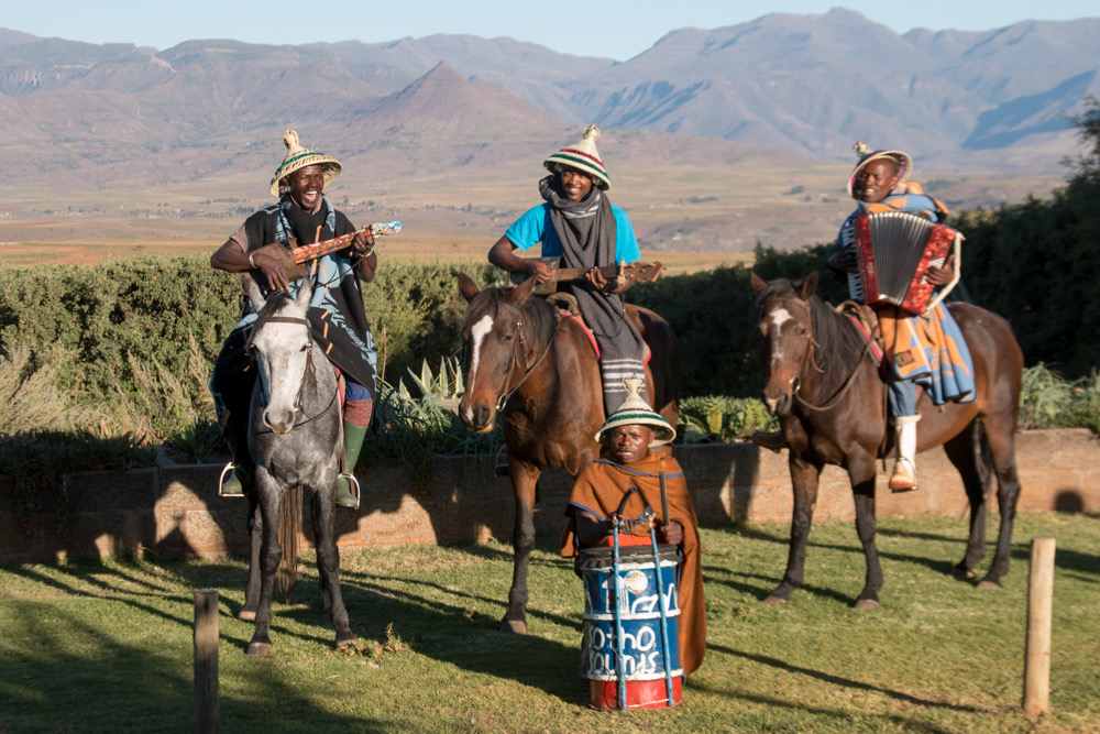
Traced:
<path id="1" fill-rule="evenodd" d="M 860 215 L 908 211 L 942 223 L 948 213 L 946 206 L 924 194 L 920 184 L 909 180 L 913 169 L 909 154 L 886 150 L 872 152 L 864 142 L 856 143 L 854 150 L 859 155 L 859 163 L 848 178 L 848 195 L 858 205 L 842 224 L 838 249 L 828 260 L 837 280 L 847 280 L 848 273 L 859 270 L 856 252 L 844 243 L 851 240 L 849 230 Z M 925 278 L 935 286 L 943 286 L 950 283 L 954 275 L 948 256 L 943 266 L 930 265 Z M 888 401 L 898 443 L 890 489 L 909 492 L 916 489 L 916 424 L 921 419 L 916 410 L 916 387 L 921 384 L 928 388 L 937 405 L 946 401 L 972 401 L 972 361 L 955 319 L 943 304 L 937 303 L 923 315 L 884 303 L 873 304 L 871 308 L 878 317 L 882 350 L 890 365 L 887 370 Z M 952 373 L 952 380 L 941 379 L 946 372 Z M 755 434 L 752 440 L 772 450 L 785 448 L 781 432 Z"/>

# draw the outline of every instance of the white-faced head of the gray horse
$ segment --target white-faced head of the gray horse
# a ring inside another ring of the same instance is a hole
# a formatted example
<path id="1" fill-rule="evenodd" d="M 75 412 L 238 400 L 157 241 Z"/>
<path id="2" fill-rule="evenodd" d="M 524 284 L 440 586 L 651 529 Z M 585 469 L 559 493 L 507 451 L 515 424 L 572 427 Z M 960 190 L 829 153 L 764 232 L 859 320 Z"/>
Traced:
<path id="1" fill-rule="evenodd" d="M 264 299 L 250 276 L 241 278 L 258 317 L 249 337 L 264 402 L 263 421 L 272 432 L 289 434 L 301 405 L 301 392 L 312 369 L 312 339 L 306 311 L 312 297 L 309 278 L 302 278 L 297 298 L 285 291 Z"/>

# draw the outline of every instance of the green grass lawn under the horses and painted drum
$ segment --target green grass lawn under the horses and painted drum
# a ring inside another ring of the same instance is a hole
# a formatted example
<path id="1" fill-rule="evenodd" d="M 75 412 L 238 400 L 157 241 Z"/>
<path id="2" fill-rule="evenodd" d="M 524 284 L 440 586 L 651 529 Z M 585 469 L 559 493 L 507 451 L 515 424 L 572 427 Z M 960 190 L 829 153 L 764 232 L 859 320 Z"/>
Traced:
<path id="1" fill-rule="evenodd" d="M 226 732 L 1100 731 L 1100 519 L 1021 516 L 998 592 L 948 576 L 966 532 L 965 517 L 882 521 L 882 607 L 857 612 L 851 524 L 814 527 L 806 585 L 780 607 L 760 600 L 788 528 L 705 528 L 706 661 L 682 706 L 626 714 L 586 708 L 581 584 L 551 537 L 532 556 L 526 636 L 497 632 L 507 544 L 388 548 L 343 555 L 358 649 L 332 649 L 310 557 L 263 659 L 235 618 L 241 559 L 0 570 L 0 732 L 193 731 L 193 594 L 207 588 L 221 593 Z M 1052 713 L 1035 719 L 1021 697 L 1041 536 L 1058 550 Z"/>

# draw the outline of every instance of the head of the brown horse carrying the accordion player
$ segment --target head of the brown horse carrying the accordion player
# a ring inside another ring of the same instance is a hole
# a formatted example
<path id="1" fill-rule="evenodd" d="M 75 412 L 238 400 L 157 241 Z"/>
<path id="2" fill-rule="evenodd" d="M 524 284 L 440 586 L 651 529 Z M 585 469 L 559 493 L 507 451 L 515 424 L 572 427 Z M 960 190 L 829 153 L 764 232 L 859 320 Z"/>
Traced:
<path id="1" fill-rule="evenodd" d="M 810 297 L 817 289 L 817 272 L 800 282 L 765 283 L 751 274 L 760 306 L 760 357 L 763 362 L 763 402 L 772 415 L 784 417 L 794 406 L 799 375 L 813 343 Z"/>

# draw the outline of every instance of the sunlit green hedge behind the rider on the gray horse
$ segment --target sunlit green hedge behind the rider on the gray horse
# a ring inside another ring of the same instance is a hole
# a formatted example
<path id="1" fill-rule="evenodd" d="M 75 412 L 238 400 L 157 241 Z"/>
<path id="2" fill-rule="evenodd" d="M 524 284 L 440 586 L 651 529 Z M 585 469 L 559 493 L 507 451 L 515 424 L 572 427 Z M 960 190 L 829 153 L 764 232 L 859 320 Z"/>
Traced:
<path id="1" fill-rule="evenodd" d="M 424 357 L 454 352 L 465 308 L 457 274 L 465 271 L 486 283 L 492 270 L 399 262 L 381 269 L 364 298 L 387 372 L 400 376 Z M 119 385 L 125 392 L 140 386 L 134 362 L 187 374 L 191 339 L 212 364 L 242 303 L 237 278 L 212 270 L 201 254 L 4 267 L 0 353 L 10 355 L 21 343 L 37 355 L 47 346 L 62 346 L 75 354 L 70 372 L 62 375 L 73 397 L 114 396 Z"/>

